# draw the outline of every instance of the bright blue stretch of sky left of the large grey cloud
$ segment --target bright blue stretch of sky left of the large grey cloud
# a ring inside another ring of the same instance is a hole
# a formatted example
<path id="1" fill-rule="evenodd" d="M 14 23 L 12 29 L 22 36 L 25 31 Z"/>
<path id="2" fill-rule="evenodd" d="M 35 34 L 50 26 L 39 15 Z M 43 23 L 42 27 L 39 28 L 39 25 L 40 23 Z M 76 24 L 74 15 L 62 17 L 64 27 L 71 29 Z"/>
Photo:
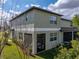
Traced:
<path id="1" fill-rule="evenodd" d="M 50 3 L 55 3 L 57 0 L 4 0 L 4 10 L 9 11 L 23 11 L 33 5 L 40 7 L 47 7 Z"/>

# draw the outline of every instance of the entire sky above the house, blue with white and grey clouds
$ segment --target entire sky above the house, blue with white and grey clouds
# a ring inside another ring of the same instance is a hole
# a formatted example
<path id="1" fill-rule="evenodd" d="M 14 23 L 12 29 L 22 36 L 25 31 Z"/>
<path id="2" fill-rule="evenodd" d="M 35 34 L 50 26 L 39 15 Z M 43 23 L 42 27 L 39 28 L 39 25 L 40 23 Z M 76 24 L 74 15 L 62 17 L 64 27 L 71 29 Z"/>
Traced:
<path id="1" fill-rule="evenodd" d="M 9 20 L 32 6 L 62 14 L 67 19 L 79 14 L 79 0 L 0 0 L 0 16 Z"/>

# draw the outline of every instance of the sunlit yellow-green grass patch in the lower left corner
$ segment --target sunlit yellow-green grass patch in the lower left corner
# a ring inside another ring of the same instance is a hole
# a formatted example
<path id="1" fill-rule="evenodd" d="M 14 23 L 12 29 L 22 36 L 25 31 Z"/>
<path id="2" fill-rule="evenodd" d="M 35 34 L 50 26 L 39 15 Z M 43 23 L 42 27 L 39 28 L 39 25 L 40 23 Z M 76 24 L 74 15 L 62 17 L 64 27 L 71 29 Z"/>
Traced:
<path id="1" fill-rule="evenodd" d="M 21 59 L 23 58 L 23 53 L 20 49 L 17 49 L 15 44 L 12 43 L 11 46 L 5 46 L 1 56 L 3 59 Z"/>

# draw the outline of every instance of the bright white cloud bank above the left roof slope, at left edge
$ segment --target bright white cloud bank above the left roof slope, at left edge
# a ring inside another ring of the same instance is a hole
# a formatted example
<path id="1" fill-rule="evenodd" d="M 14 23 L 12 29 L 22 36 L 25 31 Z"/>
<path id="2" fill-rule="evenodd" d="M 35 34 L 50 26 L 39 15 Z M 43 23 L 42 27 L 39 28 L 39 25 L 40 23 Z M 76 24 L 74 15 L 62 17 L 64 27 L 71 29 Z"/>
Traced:
<path id="1" fill-rule="evenodd" d="M 9 21 L 12 19 L 12 17 L 15 17 L 16 15 L 19 15 L 21 12 L 20 11 L 13 11 L 13 10 L 10 10 L 9 12 L 7 11 L 2 11 L 0 10 L 0 19 L 1 21 Z M 1 23 L 0 21 L 0 23 Z"/>

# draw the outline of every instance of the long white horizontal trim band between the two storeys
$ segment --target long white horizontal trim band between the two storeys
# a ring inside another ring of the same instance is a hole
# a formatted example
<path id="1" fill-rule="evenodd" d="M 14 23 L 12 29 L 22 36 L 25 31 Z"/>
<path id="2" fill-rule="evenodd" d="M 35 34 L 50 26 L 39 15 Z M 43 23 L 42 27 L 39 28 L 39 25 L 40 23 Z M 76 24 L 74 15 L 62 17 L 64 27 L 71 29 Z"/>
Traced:
<path id="1" fill-rule="evenodd" d="M 18 31 L 59 31 L 61 28 L 17 28 Z"/>

